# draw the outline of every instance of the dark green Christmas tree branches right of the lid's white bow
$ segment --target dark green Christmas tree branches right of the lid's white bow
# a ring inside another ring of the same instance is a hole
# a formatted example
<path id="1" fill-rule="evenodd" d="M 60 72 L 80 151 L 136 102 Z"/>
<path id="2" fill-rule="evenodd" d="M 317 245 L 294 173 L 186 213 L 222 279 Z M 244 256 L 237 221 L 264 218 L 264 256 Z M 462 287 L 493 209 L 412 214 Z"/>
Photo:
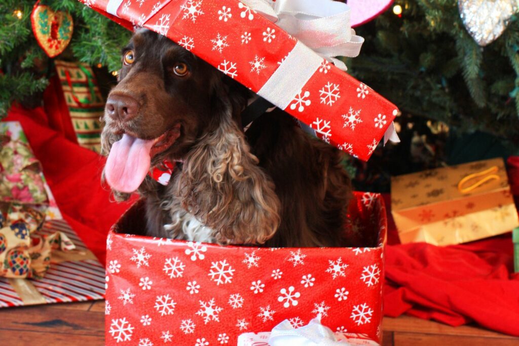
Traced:
<path id="1" fill-rule="evenodd" d="M 481 13 L 488 21 L 492 14 Z M 515 16 L 493 43 L 480 47 L 463 25 L 458 1 L 397 0 L 357 33 L 365 43 L 360 56 L 348 63 L 349 72 L 403 113 L 443 121 L 458 132 L 482 130 L 519 143 Z"/>

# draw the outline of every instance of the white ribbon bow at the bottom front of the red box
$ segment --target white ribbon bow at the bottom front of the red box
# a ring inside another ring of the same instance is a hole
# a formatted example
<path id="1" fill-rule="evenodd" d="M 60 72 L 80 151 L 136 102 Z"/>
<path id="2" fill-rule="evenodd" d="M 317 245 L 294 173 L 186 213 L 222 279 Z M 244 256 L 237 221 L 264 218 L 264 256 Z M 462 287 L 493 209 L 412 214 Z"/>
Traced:
<path id="1" fill-rule="evenodd" d="M 278 324 L 268 340 L 270 346 L 345 346 L 348 343 L 339 342 L 333 331 L 321 324 L 318 317 L 308 325 L 294 329 L 288 320 Z"/>

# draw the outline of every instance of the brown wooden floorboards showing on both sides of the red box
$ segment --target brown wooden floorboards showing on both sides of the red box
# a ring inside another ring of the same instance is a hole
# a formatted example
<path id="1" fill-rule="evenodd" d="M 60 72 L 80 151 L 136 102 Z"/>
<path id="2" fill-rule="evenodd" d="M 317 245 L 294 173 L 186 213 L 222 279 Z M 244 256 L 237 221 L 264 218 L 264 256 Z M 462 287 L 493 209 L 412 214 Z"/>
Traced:
<path id="1" fill-rule="evenodd" d="M 384 319 L 383 346 L 519 345 L 519 338 L 479 327 L 449 327 L 401 316 Z M 0 344 L 97 346 L 104 344 L 104 302 L 0 309 Z M 175 345 L 183 346 L 183 345 Z"/>

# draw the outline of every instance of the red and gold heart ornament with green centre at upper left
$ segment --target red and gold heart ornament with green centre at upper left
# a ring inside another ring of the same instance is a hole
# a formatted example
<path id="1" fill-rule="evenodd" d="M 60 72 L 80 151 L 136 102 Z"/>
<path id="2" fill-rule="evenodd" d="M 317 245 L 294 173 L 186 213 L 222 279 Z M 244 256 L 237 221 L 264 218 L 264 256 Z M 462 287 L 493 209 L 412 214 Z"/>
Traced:
<path id="1" fill-rule="evenodd" d="M 38 45 L 49 58 L 58 56 L 69 45 L 74 29 L 69 13 L 54 12 L 49 6 L 36 3 L 31 13 L 31 23 Z"/>

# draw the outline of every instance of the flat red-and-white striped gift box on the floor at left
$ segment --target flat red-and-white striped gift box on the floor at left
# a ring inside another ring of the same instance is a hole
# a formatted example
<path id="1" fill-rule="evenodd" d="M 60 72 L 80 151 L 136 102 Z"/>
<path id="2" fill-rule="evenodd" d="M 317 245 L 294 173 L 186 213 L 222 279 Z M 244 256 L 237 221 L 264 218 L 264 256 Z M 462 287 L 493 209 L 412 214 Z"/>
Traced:
<path id="1" fill-rule="evenodd" d="M 65 220 L 49 220 L 38 232 L 63 232 L 76 245 L 73 251 L 52 253 L 42 279 L 0 278 L 0 308 L 104 298 L 105 270 Z"/>

